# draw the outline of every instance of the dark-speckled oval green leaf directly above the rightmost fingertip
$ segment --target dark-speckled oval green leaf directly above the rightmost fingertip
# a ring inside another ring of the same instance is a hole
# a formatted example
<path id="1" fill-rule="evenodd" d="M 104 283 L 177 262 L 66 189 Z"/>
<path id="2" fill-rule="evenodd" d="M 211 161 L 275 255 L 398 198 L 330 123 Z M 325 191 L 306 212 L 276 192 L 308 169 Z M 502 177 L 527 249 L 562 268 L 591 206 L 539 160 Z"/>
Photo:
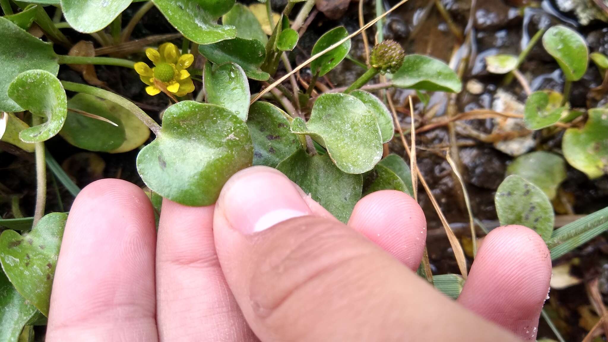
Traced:
<path id="1" fill-rule="evenodd" d="M 505 178 L 496 190 L 496 213 L 500 225 L 534 229 L 547 241 L 553 232 L 553 206 L 542 190 L 518 175 Z"/>

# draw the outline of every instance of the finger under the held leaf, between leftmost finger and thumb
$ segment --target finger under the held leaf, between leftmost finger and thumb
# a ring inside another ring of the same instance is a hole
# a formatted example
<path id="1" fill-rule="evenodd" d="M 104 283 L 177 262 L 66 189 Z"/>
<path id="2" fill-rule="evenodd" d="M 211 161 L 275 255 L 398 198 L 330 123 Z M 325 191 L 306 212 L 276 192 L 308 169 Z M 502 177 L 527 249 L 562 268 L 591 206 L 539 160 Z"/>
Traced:
<path id="1" fill-rule="evenodd" d="M 213 206 L 163 200 L 156 261 L 161 341 L 255 341 L 213 242 Z"/>

